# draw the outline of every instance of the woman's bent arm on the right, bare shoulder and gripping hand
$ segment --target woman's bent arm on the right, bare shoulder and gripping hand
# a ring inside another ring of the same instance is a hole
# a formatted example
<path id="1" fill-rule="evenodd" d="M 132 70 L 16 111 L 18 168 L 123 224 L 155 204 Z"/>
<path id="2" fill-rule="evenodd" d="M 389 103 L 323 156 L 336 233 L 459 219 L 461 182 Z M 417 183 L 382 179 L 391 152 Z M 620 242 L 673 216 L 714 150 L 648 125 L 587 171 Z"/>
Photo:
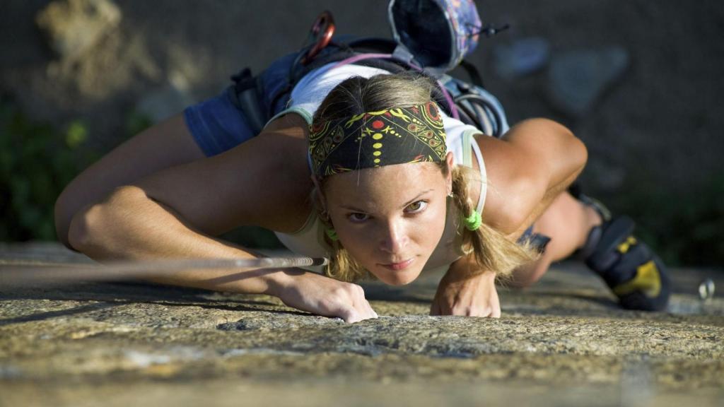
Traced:
<path id="1" fill-rule="evenodd" d="M 586 147 L 548 119 L 518 123 L 502 139 L 479 137 L 487 172 L 483 222 L 512 240 L 537 219 L 584 169 Z M 500 316 L 495 272 L 473 256 L 450 265 L 432 301 L 432 315 Z"/>

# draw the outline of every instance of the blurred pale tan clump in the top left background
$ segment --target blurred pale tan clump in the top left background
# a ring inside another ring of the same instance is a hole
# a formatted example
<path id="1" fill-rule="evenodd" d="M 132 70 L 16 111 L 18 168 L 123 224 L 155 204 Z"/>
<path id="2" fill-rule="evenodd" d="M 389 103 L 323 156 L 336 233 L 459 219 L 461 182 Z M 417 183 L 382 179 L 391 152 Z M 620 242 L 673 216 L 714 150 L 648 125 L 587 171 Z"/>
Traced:
<path id="1" fill-rule="evenodd" d="M 74 61 L 121 20 L 111 0 L 56 0 L 42 9 L 35 22 L 50 48 L 64 61 Z"/>

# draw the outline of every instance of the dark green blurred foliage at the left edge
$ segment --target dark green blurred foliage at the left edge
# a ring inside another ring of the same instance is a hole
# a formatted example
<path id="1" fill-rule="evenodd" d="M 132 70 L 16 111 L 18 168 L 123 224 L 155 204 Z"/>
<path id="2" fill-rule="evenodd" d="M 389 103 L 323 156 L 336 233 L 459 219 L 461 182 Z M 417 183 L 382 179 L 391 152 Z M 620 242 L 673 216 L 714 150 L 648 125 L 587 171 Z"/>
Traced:
<path id="1" fill-rule="evenodd" d="M 55 200 L 93 159 L 86 138 L 83 122 L 60 131 L 0 102 L 0 240 L 55 239 Z"/>

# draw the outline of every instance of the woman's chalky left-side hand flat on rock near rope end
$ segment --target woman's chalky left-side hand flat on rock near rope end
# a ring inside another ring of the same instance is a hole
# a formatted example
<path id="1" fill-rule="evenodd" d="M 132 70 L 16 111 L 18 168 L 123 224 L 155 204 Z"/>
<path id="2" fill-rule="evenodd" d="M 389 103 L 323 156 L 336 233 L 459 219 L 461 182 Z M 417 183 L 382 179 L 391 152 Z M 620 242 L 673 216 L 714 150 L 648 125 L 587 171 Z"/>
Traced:
<path id="1" fill-rule="evenodd" d="M 312 272 L 287 274 L 284 280 L 277 296 L 292 308 L 350 323 L 377 317 L 359 285 Z"/>

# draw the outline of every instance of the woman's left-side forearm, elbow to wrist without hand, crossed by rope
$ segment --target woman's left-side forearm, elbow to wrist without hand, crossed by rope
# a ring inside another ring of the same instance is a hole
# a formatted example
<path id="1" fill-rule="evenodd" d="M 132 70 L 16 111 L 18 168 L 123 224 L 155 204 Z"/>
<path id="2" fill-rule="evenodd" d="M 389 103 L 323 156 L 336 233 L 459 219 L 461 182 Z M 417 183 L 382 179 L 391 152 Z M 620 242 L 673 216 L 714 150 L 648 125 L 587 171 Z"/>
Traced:
<path id="1" fill-rule="evenodd" d="M 256 257 L 247 249 L 196 232 L 172 210 L 147 198 L 143 190 L 136 187 L 120 188 L 106 201 L 80 211 L 70 225 L 70 243 L 98 261 Z M 152 281 L 279 296 L 292 274 L 303 272 L 194 269 L 180 270 Z"/>

